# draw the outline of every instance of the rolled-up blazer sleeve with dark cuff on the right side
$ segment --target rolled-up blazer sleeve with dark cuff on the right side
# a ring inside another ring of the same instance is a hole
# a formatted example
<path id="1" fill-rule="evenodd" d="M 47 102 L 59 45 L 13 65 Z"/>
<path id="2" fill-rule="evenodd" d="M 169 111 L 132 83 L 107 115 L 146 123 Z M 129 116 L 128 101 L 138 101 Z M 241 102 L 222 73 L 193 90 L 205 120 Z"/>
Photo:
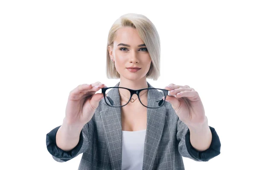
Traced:
<path id="1" fill-rule="evenodd" d="M 177 140 L 178 150 L 181 156 L 193 159 L 195 161 L 209 161 L 210 159 L 218 156 L 221 150 L 221 142 L 213 127 L 210 127 L 212 132 L 212 142 L 210 147 L 204 151 L 197 151 L 190 143 L 190 132 L 188 126 L 180 119 L 177 122 Z"/>

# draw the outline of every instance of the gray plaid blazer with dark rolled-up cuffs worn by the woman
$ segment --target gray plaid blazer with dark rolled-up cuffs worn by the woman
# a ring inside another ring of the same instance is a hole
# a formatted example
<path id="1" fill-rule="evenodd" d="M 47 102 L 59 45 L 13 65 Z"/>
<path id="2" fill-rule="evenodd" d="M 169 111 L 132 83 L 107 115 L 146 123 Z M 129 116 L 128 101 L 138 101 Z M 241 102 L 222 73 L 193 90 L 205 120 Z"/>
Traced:
<path id="1" fill-rule="evenodd" d="M 117 83 L 115 86 L 119 86 Z M 153 88 L 148 83 L 149 88 Z M 117 88 L 108 92 L 113 101 L 119 101 Z M 148 91 L 148 105 L 155 105 L 158 92 Z M 47 150 L 58 162 L 68 161 L 83 154 L 79 170 L 121 170 L 122 125 L 121 108 L 113 108 L 102 99 L 98 108 L 80 133 L 77 146 L 66 152 L 56 145 L 56 133 L 60 126 L 46 136 Z M 195 161 L 208 161 L 220 154 L 220 140 L 213 127 L 209 149 L 198 152 L 190 143 L 189 129 L 169 102 L 160 108 L 147 108 L 147 127 L 144 144 L 143 170 L 184 170 L 183 157 Z"/>

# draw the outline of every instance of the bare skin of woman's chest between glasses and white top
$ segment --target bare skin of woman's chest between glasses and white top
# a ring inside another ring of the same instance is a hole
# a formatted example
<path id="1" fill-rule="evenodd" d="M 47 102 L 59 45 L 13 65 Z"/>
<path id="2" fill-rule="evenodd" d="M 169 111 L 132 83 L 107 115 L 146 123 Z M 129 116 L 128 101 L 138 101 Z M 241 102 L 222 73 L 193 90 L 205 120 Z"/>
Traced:
<path id="1" fill-rule="evenodd" d="M 145 130 L 147 126 L 147 108 L 138 103 L 128 103 L 121 108 L 122 130 Z"/>

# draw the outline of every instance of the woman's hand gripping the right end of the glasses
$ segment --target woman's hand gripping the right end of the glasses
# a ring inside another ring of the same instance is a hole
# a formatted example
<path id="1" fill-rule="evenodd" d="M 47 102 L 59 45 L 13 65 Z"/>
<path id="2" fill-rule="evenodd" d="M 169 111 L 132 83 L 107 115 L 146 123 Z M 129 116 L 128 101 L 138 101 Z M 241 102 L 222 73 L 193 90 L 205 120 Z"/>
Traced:
<path id="1" fill-rule="evenodd" d="M 204 113 L 204 106 L 195 89 L 188 85 L 170 84 L 165 87 L 170 91 L 170 95 L 166 96 L 166 101 L 172 104 L 179 119 L 188 127 L 198 127 L 203 125 L 207 120 Z"/>

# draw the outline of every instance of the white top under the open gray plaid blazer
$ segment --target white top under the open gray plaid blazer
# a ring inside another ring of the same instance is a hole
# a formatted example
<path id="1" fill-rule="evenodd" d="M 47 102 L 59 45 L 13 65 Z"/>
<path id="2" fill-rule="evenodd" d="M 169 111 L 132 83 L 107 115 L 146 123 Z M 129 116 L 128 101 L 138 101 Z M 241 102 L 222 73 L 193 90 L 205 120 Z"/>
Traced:
<path id="1" fill-rule="evenodd" d="M 142 170 L 145 130 L 122 131 L 122 170 Z"/>

